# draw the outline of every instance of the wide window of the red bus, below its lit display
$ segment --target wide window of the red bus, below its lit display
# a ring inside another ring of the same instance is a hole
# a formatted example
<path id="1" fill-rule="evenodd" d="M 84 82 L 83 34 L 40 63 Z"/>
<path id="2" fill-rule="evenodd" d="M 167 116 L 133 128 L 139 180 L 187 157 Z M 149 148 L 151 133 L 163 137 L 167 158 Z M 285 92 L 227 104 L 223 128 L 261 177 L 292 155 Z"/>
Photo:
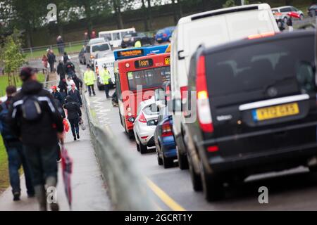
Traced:
<path id="1" fill-rule="evenodd" d="M 170 67 L 128 72 L 127 76 L 130 91 L 137 90 L 137 86 L 142 86 L 142 89 L 151 89 L 161 86 L 163 82 L 170 81 Z"/>

